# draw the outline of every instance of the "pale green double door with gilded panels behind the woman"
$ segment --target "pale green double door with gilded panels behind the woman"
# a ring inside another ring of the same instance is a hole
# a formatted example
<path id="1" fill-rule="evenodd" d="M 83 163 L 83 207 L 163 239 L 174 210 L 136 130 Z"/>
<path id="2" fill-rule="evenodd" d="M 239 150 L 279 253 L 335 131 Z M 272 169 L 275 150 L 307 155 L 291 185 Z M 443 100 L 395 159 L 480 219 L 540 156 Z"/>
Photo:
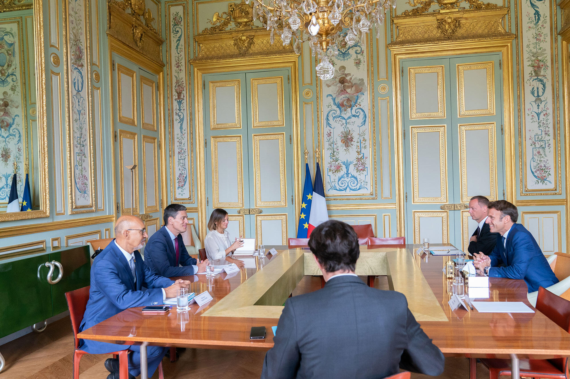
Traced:
<path id="1" fill-rule="evenodd" d="M 287 69 L 203 76 L 207 217 L 257 244 L 295 234 L 291 84 Z"/>

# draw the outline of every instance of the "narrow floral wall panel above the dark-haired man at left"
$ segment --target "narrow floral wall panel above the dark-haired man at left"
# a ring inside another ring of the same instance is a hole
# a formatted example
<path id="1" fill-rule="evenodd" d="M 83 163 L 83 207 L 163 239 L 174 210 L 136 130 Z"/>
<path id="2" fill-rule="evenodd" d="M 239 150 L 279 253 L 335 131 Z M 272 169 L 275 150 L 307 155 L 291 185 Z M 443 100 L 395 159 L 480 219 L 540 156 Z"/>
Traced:
<path id="1" fill-rule="evenodd" d="M 169 36 L 169 76 L 170 76 L 170 109 L 172 120 L 172 154 L 170 167 L 172 175 L 172 199 L 191 202 L 192 176 L 190 167 L 190 127 L 192 123 L 188 112 L 189 78 L 187 75 L 187 24 L 186 7 L 178 3 L 168 7 Z"/>

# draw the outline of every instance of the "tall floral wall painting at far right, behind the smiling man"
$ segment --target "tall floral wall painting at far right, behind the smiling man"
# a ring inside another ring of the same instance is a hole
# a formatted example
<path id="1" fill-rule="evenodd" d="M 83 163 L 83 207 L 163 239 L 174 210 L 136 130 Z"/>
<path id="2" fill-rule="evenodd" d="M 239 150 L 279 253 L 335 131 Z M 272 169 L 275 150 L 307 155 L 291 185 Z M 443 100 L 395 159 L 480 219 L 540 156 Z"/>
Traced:
<path id="1" fill-rule="evenodd" d="M 522 0 L 524 161 L 526 191 L 556 190 L 555 117 L 552 114 L 551 3 Z"/>

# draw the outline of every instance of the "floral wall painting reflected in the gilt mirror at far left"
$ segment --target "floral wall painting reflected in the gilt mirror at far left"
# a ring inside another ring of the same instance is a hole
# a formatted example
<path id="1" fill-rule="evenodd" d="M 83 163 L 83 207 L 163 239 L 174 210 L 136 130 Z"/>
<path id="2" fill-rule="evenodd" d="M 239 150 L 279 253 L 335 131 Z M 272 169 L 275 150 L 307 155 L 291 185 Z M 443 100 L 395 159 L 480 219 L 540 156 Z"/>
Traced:
<path id="1" fill-rule="evenodd" d="M 0 20 L 0 204 L 4 207 L 10 196 L 14 162 L 18 175 L 18 195 L 23 194 L 25 177 L 26 138 L 22 113 L 23 56 L 22 25 L 20 20 Z"/>

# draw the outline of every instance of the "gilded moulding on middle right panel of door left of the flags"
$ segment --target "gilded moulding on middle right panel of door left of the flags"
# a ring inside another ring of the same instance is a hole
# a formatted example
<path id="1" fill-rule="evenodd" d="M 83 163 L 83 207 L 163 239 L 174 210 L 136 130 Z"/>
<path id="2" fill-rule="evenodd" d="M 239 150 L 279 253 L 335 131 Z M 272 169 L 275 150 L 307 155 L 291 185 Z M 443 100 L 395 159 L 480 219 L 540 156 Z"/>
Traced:
<path id="1" fill-rule="evenodd" d="M 263 159 L 259 152 L 259 141 L 276 140 L 279 142 L 279 150 L 274 152 L 274 154 L 279 154 L 279 172 L 281 173 L 279 179 L 279 191 L 280 200 L 279 201 L 262 201 L 262 191 L 275 191 L 276 184 L 271 188 L 267 186 L 262 188 L 262 175 L 261 172 L 262 164 L 260 160 Z M 276 134 L 254 134 L 253 135 L 253 154 L 255 160 L 255 207 L 264 208 L 275 208 L 275 207 L 287 207 L 287 191 L 286 191 L 286 168 L 285 168 L 285 133 Z"/>

